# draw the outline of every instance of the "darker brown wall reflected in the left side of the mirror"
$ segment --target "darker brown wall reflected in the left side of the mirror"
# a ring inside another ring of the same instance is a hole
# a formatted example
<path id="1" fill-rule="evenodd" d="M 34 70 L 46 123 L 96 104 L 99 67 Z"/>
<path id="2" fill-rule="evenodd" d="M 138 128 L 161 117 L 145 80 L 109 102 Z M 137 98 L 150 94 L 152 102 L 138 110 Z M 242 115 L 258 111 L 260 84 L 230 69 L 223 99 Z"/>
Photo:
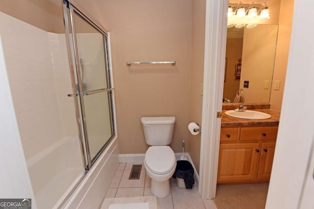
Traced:
<path id="1" fill-rule="evenodd" d="M 240 89 L 240 80 L 235 80 L 235 64 L 242 58 L 243 38 L 228 38 L 226 44 L 226 81 L 224 82 L 223 98 L 228 98 L 231 102 L 235 99 L 236 92 Z M 241 87 L 242 88 L 242 87 Z M 243 88 L 242 88 L 243 89 Z"/>

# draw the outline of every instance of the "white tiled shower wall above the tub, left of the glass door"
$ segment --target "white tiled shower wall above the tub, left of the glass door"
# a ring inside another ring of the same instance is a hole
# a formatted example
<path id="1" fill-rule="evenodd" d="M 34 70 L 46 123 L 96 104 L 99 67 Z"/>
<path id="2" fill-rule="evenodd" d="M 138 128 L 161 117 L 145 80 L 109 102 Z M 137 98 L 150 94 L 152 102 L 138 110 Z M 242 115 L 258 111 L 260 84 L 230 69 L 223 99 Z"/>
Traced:
<path id="1" fill-rule="evenodd" d="M 26 161 L 58 140 L 78 138 L 65 34 L 1 12 L 0 34 Z"/>

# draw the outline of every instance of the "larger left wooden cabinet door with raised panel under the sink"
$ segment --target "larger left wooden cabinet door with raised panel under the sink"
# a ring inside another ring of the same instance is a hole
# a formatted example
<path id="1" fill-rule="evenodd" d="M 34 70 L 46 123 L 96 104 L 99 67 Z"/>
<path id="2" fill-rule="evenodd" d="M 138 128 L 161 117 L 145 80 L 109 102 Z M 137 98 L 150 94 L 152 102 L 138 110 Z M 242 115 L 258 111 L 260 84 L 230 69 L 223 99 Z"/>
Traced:
<path id="1" fill-rule="evenodd" d="M 260 143 L 220 144 L 217 182 L 255 180 L 259 146 Z"/>

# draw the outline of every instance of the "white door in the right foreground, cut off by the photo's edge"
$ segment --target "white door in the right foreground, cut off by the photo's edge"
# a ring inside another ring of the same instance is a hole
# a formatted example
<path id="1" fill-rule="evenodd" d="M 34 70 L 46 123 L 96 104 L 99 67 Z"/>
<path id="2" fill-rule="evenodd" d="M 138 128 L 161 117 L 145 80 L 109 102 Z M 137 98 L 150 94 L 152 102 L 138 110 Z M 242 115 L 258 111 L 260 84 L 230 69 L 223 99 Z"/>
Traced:
<path id="1" fill-rule="evenodd" d="M 294 1 L 285 92 L 266 209 L 303 209 L 302 193 L 302 204 L 314 200 L 314 192 L 308 190 L 312 187 L 313 191 L 313 180 L 308 184 L 306 178 L 308 172 L 313 175 L 313 162 L 310 170 L 308 166 L 314 137 L 314 27 L 309 26 L 314 25 L 313 7 L 313 0 Z"/>

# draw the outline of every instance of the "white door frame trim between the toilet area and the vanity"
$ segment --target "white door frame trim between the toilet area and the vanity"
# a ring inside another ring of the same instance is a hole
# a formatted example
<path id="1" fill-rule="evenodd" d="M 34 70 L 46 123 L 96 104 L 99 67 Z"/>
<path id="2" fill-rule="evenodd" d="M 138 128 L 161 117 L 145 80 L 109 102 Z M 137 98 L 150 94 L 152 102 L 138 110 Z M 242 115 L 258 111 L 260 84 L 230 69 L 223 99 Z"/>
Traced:
<path id="1" fill-rule="evenodd" d="M 206 0 L 200 184 L 202 199 L 216 196 L 228 0 Z"/>

